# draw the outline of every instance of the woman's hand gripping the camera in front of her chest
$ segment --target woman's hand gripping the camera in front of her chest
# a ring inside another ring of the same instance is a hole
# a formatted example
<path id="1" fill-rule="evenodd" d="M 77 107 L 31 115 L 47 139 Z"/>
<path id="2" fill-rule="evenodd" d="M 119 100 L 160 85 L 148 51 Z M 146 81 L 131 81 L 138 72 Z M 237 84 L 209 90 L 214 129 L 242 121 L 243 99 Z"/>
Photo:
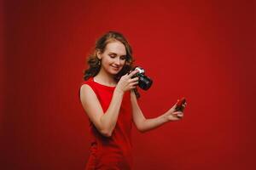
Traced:
<path id="1" fill-rule="evenodd" d="M 131 77 L 133 77 L 137 72 L 139 71 L 137 70 L 131 71 L 130 74 L 127 73 L 124 76 L 122 76 L 116 86 L 116 89 L 125 93 L 125 91 L 136 88 L 138 84 L 138 77 L 134 77 L 134 78 L 131 78 Z"/>

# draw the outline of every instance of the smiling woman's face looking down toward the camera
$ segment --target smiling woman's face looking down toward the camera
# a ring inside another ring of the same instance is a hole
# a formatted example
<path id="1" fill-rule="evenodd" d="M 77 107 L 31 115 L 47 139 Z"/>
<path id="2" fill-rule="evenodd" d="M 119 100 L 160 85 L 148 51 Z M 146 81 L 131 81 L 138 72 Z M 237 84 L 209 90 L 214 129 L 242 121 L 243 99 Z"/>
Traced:
<path id="1" fill-rule="evenodd" d="M 126 50 L 122 42 L 108 42 L 103 53 L 97 54 L 101 61 L 101 69 L 109 74 L 116 75 L 125 65 Z"/>

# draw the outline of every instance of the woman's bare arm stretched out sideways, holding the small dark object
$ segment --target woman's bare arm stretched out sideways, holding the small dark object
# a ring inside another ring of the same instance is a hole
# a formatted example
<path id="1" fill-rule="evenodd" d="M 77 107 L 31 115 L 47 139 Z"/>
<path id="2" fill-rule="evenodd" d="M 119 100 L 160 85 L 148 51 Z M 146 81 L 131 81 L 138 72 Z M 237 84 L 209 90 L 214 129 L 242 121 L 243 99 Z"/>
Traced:
<path id="1" fill-rule="evenodd" d="M 160 127 L 166 122 L 177 121 L 183 117 L 183 112 L 175 111 L 176 105 L 174 105 L 163 115 L 152 119 L 146 119 L 145 116 L 143 116 L 143 112 L 141 111 L 139 105 L 137 104 L 137 98 L 133 90 L 131 90 L 131 106 L 133 122 L 135 122 L 135 125 L 140 132 L 147 132 L 156 127 Z"/>

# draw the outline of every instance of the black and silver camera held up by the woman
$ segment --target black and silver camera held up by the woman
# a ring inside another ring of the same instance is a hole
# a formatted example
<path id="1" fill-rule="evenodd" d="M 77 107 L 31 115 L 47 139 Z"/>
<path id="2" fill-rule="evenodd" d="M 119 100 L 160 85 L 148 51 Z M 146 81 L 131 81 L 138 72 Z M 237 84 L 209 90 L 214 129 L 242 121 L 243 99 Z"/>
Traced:
<path id="1" fill-rule="evenodd" d="M 144 71 L 144 69 L 143 69 L 142 67 L 137 66 L 137 67 L 135 67 L 133 70 L 134 70 L 134 71 L 135 71 L 135 70 L 138 70 L 138 71 L 139 71 L 139 72 L 137 72 L 137 73 L 133 76 L 133 78 L 134 78 L 134 77 L 138 77 L 138 79 L 139 79 L 139 80 L 138 80 L 138 86 L 139 86 L 140 88 L 142 88 L 143 90 L 148 90 L 148 88 L 151 87 L 153 81 L 152 81 L 149 77 L 146 77 L 146 76 L 145 76 L 145 71 Z"/>

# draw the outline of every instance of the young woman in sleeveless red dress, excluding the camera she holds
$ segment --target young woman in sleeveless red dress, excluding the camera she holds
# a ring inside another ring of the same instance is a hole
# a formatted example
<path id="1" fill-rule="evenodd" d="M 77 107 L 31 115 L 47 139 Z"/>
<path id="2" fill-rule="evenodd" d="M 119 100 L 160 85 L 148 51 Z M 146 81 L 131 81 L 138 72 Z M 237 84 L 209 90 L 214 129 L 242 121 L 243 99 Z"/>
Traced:
<path id="1" fill-rule="evenodd" d="M 176 111 L 176 105 L 156 118 L 143 116 L 137 104 L 138 78 L 133 77 L 137 71 L 131 71 L 132 63 L 131 46 L 119 32 L 109 31 L 96 41 L 79 91 L 90 119 L 90 157 L 86 169 L 131 169 L 132 123 L 146 132 L 183 117 L 182 111 Z"/>

